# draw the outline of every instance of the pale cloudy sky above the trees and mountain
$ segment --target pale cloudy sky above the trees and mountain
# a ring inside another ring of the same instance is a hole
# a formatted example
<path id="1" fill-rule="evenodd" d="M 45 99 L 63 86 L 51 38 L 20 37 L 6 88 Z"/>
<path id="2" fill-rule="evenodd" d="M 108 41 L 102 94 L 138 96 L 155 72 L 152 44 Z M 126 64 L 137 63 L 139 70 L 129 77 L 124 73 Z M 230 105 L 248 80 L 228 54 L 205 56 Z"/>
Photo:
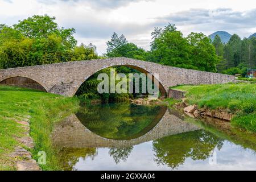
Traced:
<path id="1" fill-rule="evenodd" d="M 255 0 L 0 0 L 0 24 L 13 25 L 35 14 L 56 17 L 61 27 L 76 29 L 80 43 L 93 43 L 99 54 L 113 32 L 148 49 L 154 27 L 176 24 L 190 32 L 256 32 Z"/>

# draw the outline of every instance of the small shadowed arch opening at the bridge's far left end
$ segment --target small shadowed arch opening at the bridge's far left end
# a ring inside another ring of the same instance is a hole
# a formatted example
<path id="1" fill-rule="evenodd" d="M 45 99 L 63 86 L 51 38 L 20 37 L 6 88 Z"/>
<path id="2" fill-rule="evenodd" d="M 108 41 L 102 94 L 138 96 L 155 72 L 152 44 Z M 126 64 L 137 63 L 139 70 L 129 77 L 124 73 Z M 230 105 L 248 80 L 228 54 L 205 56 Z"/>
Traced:
<path id="1" fill-rule="evenodd" d="M 45 87 L 38 81 L 23 76 L 10 76 L 0 81 L 0 85 L 18 86 L 23 88 L 31 88 L 47 92 Z"/>

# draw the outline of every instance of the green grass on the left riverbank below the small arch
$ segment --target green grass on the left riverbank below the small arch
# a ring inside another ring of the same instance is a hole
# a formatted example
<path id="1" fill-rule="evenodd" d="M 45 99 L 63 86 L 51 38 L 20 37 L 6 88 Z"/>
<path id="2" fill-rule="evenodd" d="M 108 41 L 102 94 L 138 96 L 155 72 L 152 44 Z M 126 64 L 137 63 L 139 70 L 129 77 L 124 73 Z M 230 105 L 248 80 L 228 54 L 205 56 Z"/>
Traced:
<path id="1" fill-rule="evenodd" d="M 17 92 L 18 91 L 18 92 Z M 76 98 L 57 96 L 32 89 L 0 86 L 0 170 L 15 169 L 10 154 L 19 143 L 15 137 L 22 137 L 23 129 L 16 121 L 30 117 L 30 135 L 35 148 L 32 156 L 46 152 L 47 164 L 44 170 L 59 169 L 57 151 L 51 144 L 54 123 L 78 109 Z"/>

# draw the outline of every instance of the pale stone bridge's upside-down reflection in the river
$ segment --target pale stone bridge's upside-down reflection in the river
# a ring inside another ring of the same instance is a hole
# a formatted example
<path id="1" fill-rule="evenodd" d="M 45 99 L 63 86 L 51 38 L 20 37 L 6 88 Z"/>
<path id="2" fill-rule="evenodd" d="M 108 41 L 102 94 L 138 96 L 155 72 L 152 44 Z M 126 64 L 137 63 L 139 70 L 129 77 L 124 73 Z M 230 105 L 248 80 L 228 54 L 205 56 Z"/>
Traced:
<path id="1" fill-rule="evenodd" d="M 115 140 L 101 137 L 87 129 L 75 114 L 57 123 L 52 133 L 53 143 L 60 147 L 86 148 L 86 147 L 130 147 L 136 144 L 200 130 L 199 127 L 183 121 L 184 117 L 177 111 L 167 109 L 160 121 L 146 134 L 127 140 Z"/>

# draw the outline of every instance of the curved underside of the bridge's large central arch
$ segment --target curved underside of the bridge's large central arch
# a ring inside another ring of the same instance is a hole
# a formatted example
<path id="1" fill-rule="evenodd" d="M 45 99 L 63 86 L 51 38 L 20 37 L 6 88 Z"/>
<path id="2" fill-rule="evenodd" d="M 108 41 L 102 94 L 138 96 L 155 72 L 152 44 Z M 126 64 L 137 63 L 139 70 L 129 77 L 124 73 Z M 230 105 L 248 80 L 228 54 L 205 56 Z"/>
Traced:
<path id="1" fill-rule="evenodd" d="M 76 87 L 76 89 L 73 90 L 72 95 L 75 96 L 75 94 L 77 93 L 77 91 L 79 90 L 79 88 L 81 87 L 81 85 L 87 81 L 91 76 L 93 76 L 95 73 L 101 71 L 102 69 L 105 68 L 110 68 L 110 67 L 118 67 L 118 66 L 124 66 L 124 67 L 129 67 L 129 68 L 133 68 L 136 69 L 137 71 L 141 72 L 141 73 L 145 73 L 145 74 L 150 74 L 152 75 L 152 82 L 154 82 L 154 80 L 157 80 L 159 82 L 159 92 L 161 94 L 161 97 L 167 97 L 167 90 L 164 88 L 162 81 L 160 81 L 160 79 L 155 78 L 154 73 L 151 73 L 149 71 L 147 71 L 145 68 L 142 68 L 138 65 L 134 65 L 134 64 L 111 64 L 111 65 L 106 65 L 104 67 L 101 67 L 100 69 L 96 69 L 94 72 L 92 72 L 90 74 L 90 76 L 87 76 L 84 78 L 84 80 L 81 80 L 78 84 L 78 86 Z"/>

